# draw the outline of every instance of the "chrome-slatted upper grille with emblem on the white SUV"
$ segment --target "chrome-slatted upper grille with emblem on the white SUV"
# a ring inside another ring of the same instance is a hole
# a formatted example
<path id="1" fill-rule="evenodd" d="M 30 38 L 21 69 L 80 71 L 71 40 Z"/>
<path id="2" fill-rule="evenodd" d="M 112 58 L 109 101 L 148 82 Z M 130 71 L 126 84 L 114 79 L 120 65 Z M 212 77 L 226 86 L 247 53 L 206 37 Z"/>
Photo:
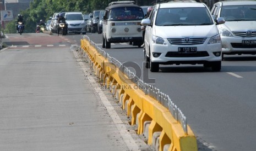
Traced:
<path id="1" fill-rule="evenodd" d="M 167 38 L 170 44 L 176 45 L 195 45 L 195 44 L 203 44 L 206 38 L 189 38 L 189 41 L 186 42 L 185 38 Z"/>

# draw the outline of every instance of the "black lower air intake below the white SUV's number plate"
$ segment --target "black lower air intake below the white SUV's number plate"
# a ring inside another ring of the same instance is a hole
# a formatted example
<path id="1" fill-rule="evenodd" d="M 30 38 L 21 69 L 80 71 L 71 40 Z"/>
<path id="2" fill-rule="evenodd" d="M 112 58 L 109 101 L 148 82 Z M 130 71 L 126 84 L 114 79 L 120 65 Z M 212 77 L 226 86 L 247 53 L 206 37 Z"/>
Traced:
<path id="1" fill-rule="evenodd" d="M 209 56 L 207 51 L 197 51 L 197 53 L 178 53 L 169 51 L 166 55 L 166 57 L 205 57 Z"/>

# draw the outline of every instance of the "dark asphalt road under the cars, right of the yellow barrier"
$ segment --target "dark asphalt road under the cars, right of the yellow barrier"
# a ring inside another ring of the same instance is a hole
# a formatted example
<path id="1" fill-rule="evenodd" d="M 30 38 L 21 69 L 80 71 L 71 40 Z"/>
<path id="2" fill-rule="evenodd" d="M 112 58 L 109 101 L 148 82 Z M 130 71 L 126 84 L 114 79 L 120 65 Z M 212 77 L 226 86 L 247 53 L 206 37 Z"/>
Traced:
<path id="1" fill-rule="evenodd" d="M 101 47 L 101 34 L 87 36 Z M 144 70 L 142 48 L 116 43 L 104 50 L 120 62 L 135 62 Z M 155 79 L 152 84 L 182 110 L 198 138 L 199 150 L 255 150 L 256 56 L 224 57 L 220 72 L 203 65 L 172 65 L 160 66 L 158 73 L 145 69 L 144 74 Z"/>

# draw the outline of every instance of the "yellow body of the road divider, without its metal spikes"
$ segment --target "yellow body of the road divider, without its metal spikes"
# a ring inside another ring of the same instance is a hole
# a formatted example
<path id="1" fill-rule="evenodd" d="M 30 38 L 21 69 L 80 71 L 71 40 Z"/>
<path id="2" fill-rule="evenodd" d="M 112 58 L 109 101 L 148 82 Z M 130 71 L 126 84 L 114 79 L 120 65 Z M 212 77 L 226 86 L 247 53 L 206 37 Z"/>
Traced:
<path id="1" fill-rule="evenodd" d="M 184 132 L 181 124 L 173 118 L 167 108 L 131 83 L 127 76 L 100 55 L 88 40 L 81 39 L 81 49 L 89 57 L 95 74 L 103 80 L 106 88 L 110 88 L 113 95 L 117 93 L 122 108 L 126 109 L 128 116 L 131 115 L 131 124 L 138 124 L 138 135 L 144 132 L 144 123 L 151 121 L 148 127 L 149 145 L 155 141 L 153 134 L 160 132 L 157 143 L 154 142 L 154 145 L 159 144 L 158 150 L 164 150 L 164 147 L 173 151 L 198 150 L 197 139 L 188 125 L 187 132 Z"/>

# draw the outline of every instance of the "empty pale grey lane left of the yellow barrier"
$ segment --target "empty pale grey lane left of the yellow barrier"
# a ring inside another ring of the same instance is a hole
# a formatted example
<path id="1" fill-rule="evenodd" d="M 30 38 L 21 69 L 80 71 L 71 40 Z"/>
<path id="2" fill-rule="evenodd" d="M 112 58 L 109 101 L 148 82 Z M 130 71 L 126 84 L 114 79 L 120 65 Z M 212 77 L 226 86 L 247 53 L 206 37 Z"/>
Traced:
<path id="1" fill-rule="evenodd" d="M 70 49 L 77 41 L 7 36 L 10 47 L 0 51 L 0 150 L 151 150 Z"/>

